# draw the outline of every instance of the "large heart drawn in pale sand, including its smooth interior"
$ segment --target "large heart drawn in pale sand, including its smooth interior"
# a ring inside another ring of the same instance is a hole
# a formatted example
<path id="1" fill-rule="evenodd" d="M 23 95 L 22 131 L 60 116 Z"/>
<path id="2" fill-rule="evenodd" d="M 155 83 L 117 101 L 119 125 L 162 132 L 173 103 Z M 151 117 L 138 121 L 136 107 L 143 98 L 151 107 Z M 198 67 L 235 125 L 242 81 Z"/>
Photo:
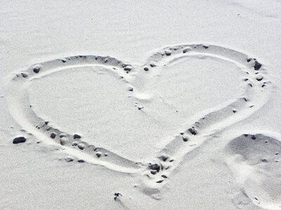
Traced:
<path id="1" fill-rule="evenodd" d="M 36 64 L 11 80 L 7 103 L 45 144 L 80 162 L 152 174 L 145 183 L 159 188 L 186 153 L 258 110 L 266 90 L 256 59 L 193 44 L 157 50 L 142 66 L 94 55 Z"/>

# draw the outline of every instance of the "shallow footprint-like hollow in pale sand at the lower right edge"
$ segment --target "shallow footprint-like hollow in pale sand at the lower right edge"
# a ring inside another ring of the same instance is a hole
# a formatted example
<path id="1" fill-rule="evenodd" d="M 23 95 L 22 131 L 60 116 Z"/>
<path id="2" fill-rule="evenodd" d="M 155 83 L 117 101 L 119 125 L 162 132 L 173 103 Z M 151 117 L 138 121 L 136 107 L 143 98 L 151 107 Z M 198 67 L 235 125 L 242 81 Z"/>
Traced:
<path id="1" fill-rule="evenodd" d="M 280 138 L 266 134 L 243 134 L 226 146 L 226 162 L 237 183 L 259 207 L 281 207 L 280 154 Z"/>

